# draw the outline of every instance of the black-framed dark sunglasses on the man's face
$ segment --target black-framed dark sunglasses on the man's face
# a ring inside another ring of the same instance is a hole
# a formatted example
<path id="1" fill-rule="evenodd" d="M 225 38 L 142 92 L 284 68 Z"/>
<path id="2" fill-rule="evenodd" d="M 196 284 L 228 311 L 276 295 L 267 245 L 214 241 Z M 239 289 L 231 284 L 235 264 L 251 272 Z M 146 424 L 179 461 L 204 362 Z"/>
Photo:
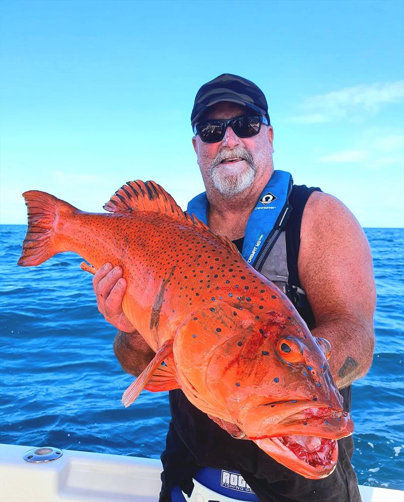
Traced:
<path id="1" fill-rule="evenodd" d="M 230 120 L 208 120 L 193 126 L 193 134 L 199 135 L 205 143 L 222 141 L 226 129 L 230 125 L 239 138 L 251 138 L 261 130 L 261 124 L 268 125 L 268 120 L 262 115 L 241 115 Z"/>

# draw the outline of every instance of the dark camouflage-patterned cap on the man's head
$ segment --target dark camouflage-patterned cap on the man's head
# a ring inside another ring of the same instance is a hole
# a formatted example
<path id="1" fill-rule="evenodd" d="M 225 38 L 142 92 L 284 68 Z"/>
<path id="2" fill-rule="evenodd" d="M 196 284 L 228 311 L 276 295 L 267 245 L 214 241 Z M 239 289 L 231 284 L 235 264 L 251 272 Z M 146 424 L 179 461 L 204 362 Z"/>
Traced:
<path id="1" fill-rule="evenodd" d="M 264 115 L 270 124 L 268 103 L 261 89 L 251 80 L 223 73 L 208 83 L 205 83 L 196 93 L 195 103 L 191 113 L 191 124 L 194 125 L 209 106 L 222 101 L 230 101 L 243 105 Z"/>

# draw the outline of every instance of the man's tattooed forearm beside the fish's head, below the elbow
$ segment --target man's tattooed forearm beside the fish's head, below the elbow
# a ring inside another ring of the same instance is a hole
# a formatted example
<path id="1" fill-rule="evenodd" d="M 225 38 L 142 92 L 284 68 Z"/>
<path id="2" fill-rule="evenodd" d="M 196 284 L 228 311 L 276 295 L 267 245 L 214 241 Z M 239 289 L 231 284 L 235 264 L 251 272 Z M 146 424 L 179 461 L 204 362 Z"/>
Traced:
<path id="1" fill-rule="evenodd" d="M 320 323 L 312 333 L 326 338 L 331 344 L 328 362 L 338 389 L 347 387 L 367 373 L 375 343 L 373 325 L 358 318 L 339 317 Z"/>

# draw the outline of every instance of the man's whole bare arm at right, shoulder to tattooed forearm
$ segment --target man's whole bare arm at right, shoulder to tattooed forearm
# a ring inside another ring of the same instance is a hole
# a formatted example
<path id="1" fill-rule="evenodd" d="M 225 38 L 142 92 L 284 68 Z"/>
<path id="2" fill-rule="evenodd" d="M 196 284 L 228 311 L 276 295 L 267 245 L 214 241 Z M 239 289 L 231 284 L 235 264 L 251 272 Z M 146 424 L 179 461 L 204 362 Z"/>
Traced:
<path id="1" fill-rule="evenodd" d="M 316 319 L 312 333 L 330 342 L 335 383 L 347 387 L 372 364 L 376 289 L 366 236 L 331 195 L 314 192 L 306 204 L 298 272 Z"/>

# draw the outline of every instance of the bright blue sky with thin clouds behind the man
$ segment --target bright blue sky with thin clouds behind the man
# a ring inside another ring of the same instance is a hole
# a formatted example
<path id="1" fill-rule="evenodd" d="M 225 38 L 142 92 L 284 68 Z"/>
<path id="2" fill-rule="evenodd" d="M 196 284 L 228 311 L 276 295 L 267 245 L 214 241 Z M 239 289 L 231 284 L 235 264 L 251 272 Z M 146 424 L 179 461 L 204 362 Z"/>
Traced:
<path id="1" fill-rule="evenodd" d="M 403 2 L 0 6 L 1 223 L 26 222 L 25 190 L 99 212 L 134 179 L 185 208 L 195 93 L 230 72 L 267 96 L 275 169 L 364 227 L 403 226 Z"/>

